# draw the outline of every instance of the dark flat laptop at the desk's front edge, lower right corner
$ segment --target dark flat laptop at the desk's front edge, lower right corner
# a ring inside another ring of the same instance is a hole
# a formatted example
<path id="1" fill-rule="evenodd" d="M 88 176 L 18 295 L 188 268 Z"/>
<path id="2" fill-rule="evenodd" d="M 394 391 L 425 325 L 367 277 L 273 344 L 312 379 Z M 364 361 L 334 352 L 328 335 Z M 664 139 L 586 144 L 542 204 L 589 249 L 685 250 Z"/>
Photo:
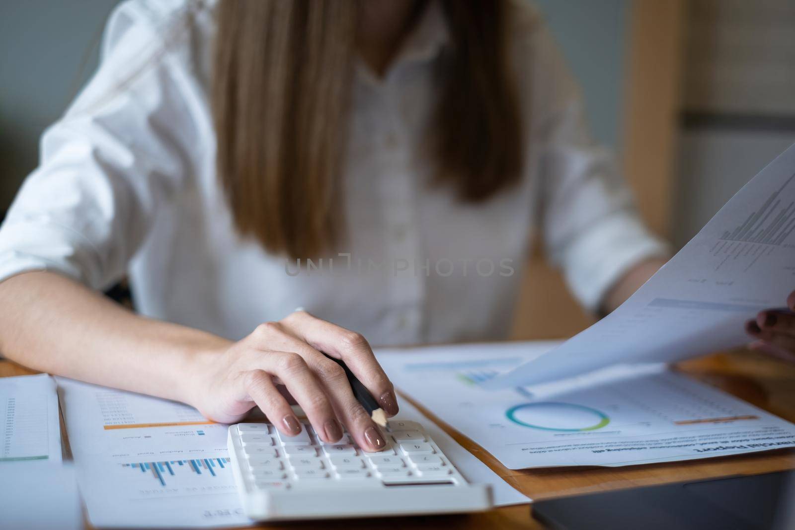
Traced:
<path id="1" fill-rule="evenodd" d="M 564 497 L 532 511 L 566 530 L 795 530 L 795 471 Z"/>

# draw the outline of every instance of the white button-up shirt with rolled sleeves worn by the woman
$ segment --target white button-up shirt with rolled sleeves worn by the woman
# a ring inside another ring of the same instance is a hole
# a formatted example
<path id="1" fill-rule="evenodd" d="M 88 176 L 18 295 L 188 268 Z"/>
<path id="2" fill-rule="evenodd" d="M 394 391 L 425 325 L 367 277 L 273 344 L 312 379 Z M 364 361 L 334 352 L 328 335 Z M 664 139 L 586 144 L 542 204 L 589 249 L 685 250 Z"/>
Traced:
<path id="1" fill-rule="evenodd" d="M 125 273 L 142 314 L 238 339 L 302 306 L 373 344 L 503 339 L 533 230 L 595 308 L 665 247 L 591 143 L 549 34 L 516 4 L 522 181 L 485 203 L 435 186 L 421 149 L 450 46 L 429 4 L 383 79 L 359 61 L 343 164 L 347 237 L 298 264 L 235 231 L 215 174 L 211 3 L 119 6 L 98 72 L 44 134 L 41 164 L 0 229 L 0 280 L 51 270 L 91 288 Z M 300 267 L 299 267 L 300 265 Z"/>

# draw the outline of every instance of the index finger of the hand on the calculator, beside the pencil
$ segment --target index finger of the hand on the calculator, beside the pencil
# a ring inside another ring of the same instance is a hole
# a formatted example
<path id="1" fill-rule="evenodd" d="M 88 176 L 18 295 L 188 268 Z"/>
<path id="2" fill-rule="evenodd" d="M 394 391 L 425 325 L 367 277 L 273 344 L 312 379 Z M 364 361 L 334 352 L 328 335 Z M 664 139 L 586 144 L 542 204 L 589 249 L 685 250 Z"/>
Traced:
<path id="1" fill-rule="evenodd" d="M 398 412 L 394 386 L 375 359 L 370 344 L 359 333 L 318 319 L 306 311 L 296 311 L 284 322 L 300 339 L 316 350 L 342 359 L 362 381 L 388 416 Z"/>

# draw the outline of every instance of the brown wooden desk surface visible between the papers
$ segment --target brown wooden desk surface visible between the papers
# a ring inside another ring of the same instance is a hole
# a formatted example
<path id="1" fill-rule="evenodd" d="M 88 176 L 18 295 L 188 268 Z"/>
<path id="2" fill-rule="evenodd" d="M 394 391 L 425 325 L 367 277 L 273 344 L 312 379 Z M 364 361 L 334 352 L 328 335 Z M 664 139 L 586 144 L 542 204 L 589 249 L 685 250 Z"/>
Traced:
<path id="1" fill-rule="evenodd" d="M 677 367 L 700 381 L 718 386 L 786 420 L 795 422 L 795 366 L 761 354 L 737 351 L 714 355 Z M 8 361 L 0 361 L 0 377 L 33 373 Z M 795 469 L 795 450 L 776 450 L 754 455 L 708 458 L 622 468 L 556 468 L 549 470 L 508 470 L 482 447 L 465 438 L 428 410 L 422 412 L 437 421 L 463 447 L 486 462 L 516 489 L 534 499 L 575 493 L 606 491 L 665 482 L 715 478 L 733 474 L 758 474 Z M 283 524 L 268 528 L 318 528 L 315 522 Z M 398 517 L 390 519 L 324 521 L 332 528 L 378 528 L 379 530 L 424 528 L 542 528 L 529 516 L 527 505 L 494 509 L 488 513 L 461 516 Z"/>

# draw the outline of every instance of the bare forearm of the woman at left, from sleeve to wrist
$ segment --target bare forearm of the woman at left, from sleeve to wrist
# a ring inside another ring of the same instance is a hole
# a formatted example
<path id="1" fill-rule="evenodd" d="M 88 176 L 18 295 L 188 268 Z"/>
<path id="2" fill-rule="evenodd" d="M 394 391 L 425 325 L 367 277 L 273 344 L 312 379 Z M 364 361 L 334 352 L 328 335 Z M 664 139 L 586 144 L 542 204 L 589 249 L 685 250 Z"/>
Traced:
<path id="1" fill-rule="evenodd" d="M 55 273 L 0 283 L 0 352 L 44 372 L 188 401 L 193 359 L 230 343 L 135 315 Z"/>

